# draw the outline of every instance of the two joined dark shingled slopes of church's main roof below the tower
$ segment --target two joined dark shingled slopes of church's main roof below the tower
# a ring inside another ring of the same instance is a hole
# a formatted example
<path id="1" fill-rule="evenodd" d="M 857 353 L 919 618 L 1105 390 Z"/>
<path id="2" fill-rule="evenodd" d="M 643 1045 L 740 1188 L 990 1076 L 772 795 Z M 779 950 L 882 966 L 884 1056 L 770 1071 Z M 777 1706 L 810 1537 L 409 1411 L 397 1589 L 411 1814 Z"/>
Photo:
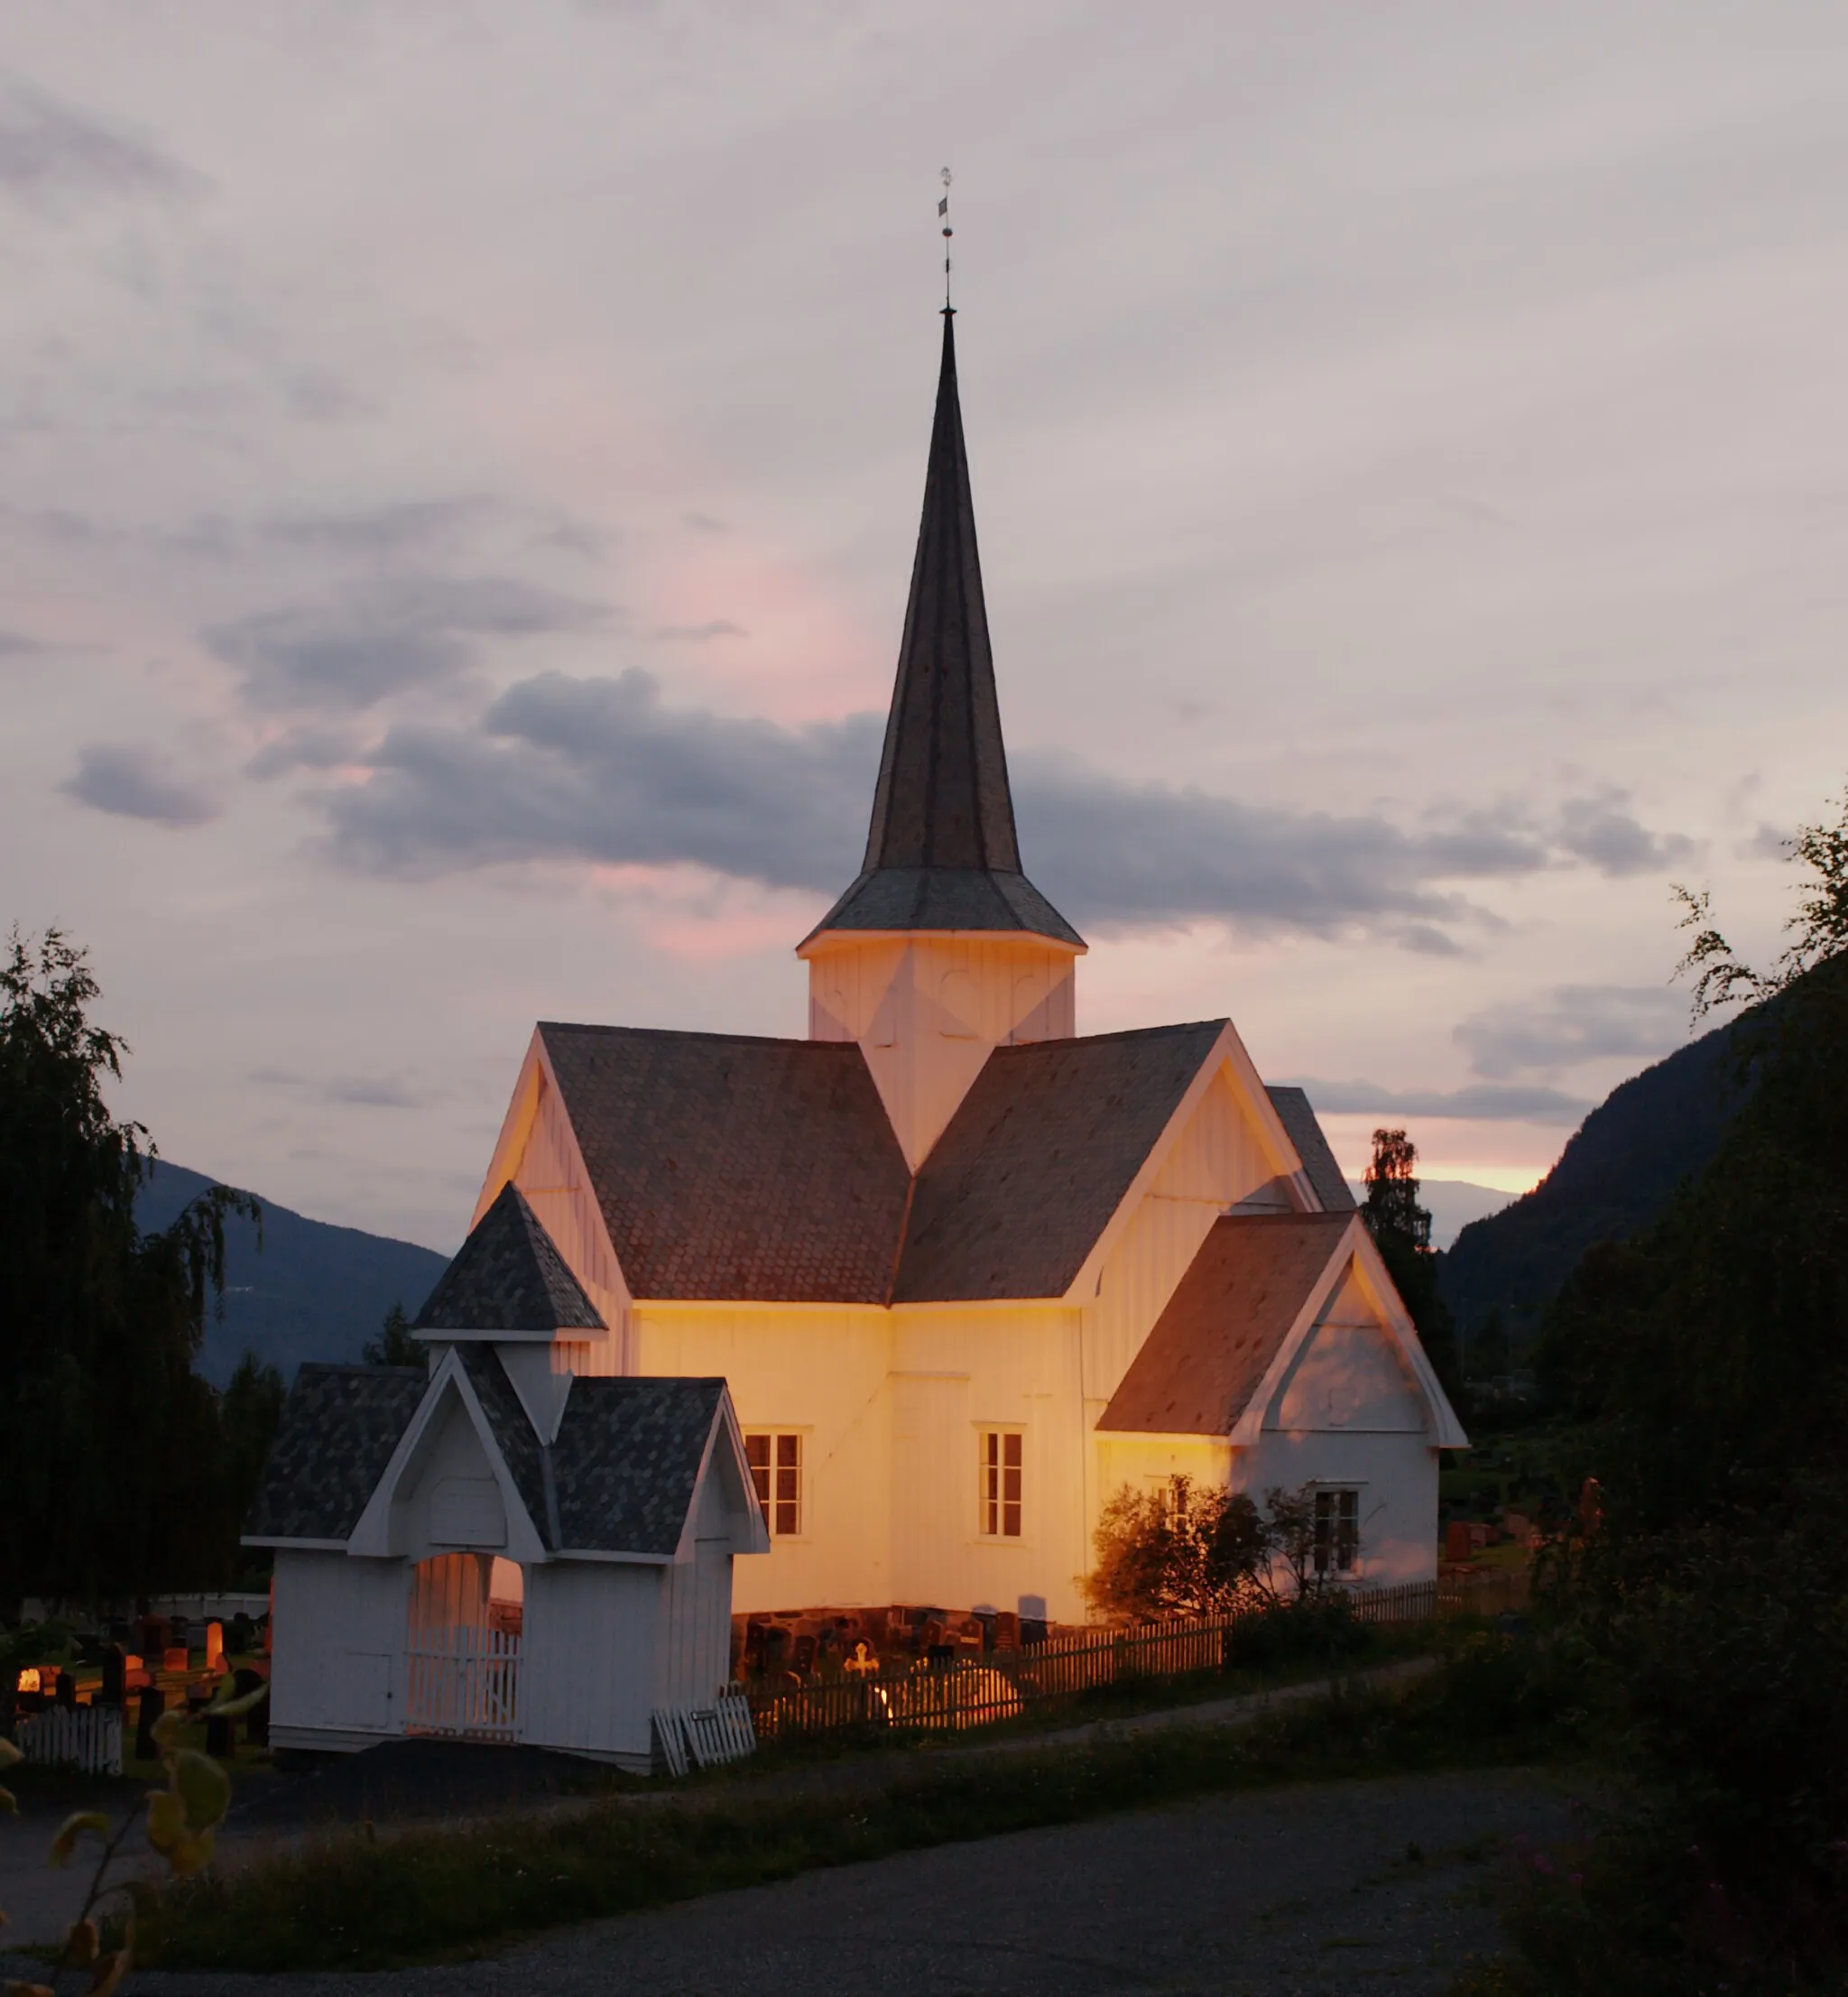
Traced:
<path id="1" fill-rule="evenodd" d="M 1223 1024 L 995 1048 L 915 1186 L 851 1040 L 539 1034 L 633 1296 L 921 1304 L 1063 1296 Z"/>

